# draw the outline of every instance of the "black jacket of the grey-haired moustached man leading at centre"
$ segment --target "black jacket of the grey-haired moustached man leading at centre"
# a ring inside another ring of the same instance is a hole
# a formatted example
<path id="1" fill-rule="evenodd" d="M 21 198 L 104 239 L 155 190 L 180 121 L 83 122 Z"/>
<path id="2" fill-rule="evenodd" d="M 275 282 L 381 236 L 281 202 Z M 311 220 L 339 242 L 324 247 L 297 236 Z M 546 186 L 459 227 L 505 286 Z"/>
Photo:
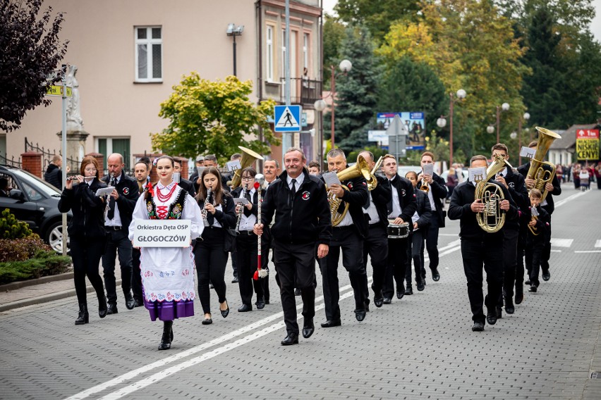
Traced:
<path id="1" fill-rule="evenodd" d="M 292 196 L 288 173 L 284 171 L 265 191 L 261 222 L 268 226 L 275 215 L 271 232 L 275 242 L 328 244 L 332 238 L 332 216 L 324 183 L 309 175 L 305 168 L 303 182 Z"/>

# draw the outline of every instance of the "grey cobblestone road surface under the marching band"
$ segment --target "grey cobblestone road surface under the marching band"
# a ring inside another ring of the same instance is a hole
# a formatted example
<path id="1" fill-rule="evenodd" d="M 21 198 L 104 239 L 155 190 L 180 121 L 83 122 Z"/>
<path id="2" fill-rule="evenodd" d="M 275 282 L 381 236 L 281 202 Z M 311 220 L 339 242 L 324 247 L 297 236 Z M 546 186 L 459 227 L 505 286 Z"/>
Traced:
<path id="1" fill-rule="evenodd" d="M 439 282 L 372 304 L 358 323 L 340 267 L 343 325 L 319 327 L 318 298 L 315 335 L 297 346 L 279 344 L 286 333 L 273 277 L 271 304 L 238 313 L 231 269 L 228 318 L 212 292 L 214 323 L 200 324 L 197 302 L 194 318 L 174 324 L 171 351 L 157 351 L 162 326 L 143 308 L 126 310 L 123 299 L 119 314 L 91 313 L 81 326 L 73 325 L 73 296 L 1 312 L 0 398 L 601 399 L 601 191 L 566 186 L 556 201 L 551 280 L 484 332 L 471 331 L 459 225 L 447 221 Z"/>

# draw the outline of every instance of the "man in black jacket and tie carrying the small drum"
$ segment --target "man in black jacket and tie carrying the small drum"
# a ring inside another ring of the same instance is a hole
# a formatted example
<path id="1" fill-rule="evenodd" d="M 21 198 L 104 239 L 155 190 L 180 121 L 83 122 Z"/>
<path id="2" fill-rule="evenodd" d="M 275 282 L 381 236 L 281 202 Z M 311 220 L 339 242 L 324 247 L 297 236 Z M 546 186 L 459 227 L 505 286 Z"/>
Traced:
<path id="1" fill-rule="evenodd" d="M 382 171 L 390 182 L 391 201 L 387 206 L 388 221 L 394 225 L 408 224 L 409 232 L 413 230 L 411 215 L 418 204 L 415 201 L 413 185 L 397 173 L 396 158 L 387 154 L 382 161 Z M 388 261 L 382 294 L 384 304 L 392 303 L 394 283 L 396 282 L 396 298 L 405 296 L 405 272 L 407 268 L 408 237 L 404 239 L 388 239 Z"/>

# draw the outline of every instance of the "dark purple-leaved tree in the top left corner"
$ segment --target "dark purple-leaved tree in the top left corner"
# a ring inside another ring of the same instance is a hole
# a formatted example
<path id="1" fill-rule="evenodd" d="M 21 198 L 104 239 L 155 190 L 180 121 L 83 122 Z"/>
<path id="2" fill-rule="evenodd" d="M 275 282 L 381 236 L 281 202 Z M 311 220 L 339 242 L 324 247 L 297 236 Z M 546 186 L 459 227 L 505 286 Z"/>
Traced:
<path id="1" fill-rule="evenodd" d="M 40 104 L 46 85 L 61 80 L 61 74 L 47 81 L 67 51 L 68 41 L 59 40 L 63 13 L 54 17 L 52 8 L 38 17 L 43 0 L 0 0 L 0 130 L 17 130 L 25 113 Z"/>

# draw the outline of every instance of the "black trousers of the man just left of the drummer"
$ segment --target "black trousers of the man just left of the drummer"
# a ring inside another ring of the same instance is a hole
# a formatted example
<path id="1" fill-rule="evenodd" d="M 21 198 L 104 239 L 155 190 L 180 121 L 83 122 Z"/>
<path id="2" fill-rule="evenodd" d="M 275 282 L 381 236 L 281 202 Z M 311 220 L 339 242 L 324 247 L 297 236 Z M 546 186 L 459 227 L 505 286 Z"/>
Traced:
<path id="1" fill-rule="evenodd" d="M 368 237 L 363 239 L 363 265 L 365 271 L 368 269 L 368 254 L 372 260 L 373 283 L 372 290 L 374 294 L 382 292 L 384 285 L 384 276 L 386 275 L 386 264 L 388 260 L 388 234 L 386 228 L 380 224 L 370 225 Z M 366 298 L 369 296 L 368 280 L 365 280 L 363 288 Z"/>

